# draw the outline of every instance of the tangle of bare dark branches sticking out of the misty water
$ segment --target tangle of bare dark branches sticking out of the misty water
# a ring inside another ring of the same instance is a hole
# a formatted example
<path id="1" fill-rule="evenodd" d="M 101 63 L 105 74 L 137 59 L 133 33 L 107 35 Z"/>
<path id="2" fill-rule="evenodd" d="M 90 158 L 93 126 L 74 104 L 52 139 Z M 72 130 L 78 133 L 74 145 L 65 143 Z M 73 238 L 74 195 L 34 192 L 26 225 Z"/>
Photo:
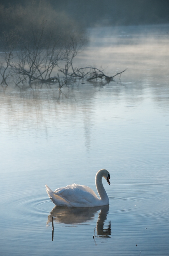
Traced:
<path id="1" fill-rule="evenodd" d="M 37 42 L 37 40 L 35 40 Z M 34 44 L 33 49 L 23 47 L 14 51 L 15 47 L 11 46 L 3 52 L 4 60 L 0 65 L 0 75 L 2 76 L 1 86 L 6 89 L 9 82 L 16 87 L 46 85 L 50 88 L 52 84 L 58 84 L 60 90 L 64 85 L 70 85 L 77 80 L 85 79 L 88 82 L 95 81 L 99 83 L 104 81 L 105 84 L 115 81 L 116 76 L 121 77 L 126 70 L 116 73 L 113 76 L 105 74 L 104 69 L 96 67 L 74 68 L 73 59 L 81 51 L 83 42 L 71 38 L 71 44 L 58 47 L 54 41 L 49 41 L 46 48 Z M 61 68 L 60 66 L 64 66 Z M 57 75 L 53 76 L 54 73 Z M 60 74 L 60 75 L 59 75 Z"/>

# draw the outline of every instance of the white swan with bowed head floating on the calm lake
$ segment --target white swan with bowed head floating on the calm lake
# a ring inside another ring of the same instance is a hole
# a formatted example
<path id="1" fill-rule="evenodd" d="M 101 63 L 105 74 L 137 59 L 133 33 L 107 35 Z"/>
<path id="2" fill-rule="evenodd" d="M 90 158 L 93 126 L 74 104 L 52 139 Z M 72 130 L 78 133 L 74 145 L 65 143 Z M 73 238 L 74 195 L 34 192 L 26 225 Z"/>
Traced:
<path id="1" fill-rule="evenodd" d="M 85 185 L 72 184 L 63 188 L 57 188 L 54 192 L 45 185 L 46 192 L 52 202 L 57 206 L 93 207 L 108 205 L 109 197 L 103 187 L 102 177 L 104 177 L 110 185 L 110 173 L 105 169 L 101 169 L 96 173 L 95 184 L 101 199 L 96 196 L 91 188 Z"/>

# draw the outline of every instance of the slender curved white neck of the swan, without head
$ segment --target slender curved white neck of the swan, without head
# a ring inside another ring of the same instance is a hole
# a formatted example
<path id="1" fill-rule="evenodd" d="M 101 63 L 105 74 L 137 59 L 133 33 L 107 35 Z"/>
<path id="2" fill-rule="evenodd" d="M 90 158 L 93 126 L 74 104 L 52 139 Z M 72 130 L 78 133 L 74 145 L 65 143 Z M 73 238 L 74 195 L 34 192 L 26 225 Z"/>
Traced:
<path id="1" fill-rule="evenodd" d="M 101 200 L 108 202 L 108 204 L 109 204 L 109 197 L 106 193 L 106 190 L 103 187 L 102 177 L 103 177 L 102 173 L 97 172 L 96 177 L 95 177 L 95 184 L 96 184 L 97 192 L 98 192 Z"/>

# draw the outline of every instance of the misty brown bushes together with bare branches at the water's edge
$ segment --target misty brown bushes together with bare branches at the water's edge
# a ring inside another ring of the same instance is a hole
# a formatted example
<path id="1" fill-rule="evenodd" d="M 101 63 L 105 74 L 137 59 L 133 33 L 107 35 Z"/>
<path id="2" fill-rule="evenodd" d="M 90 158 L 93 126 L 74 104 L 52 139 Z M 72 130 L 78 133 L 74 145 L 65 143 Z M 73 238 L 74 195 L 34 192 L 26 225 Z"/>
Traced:
<path id="1" fill-rule="evenodd" d="M 74 58 L 88 42 L 85 28 L 45 1 L 15 8 L 1 5 L 0 14 L 4 22 L 0 85 L 4 90 L 11 83 L 19 89 L 58 84 L 60 90 L 79 79 L 107 84 L 125 71 L 107 76 L 102 68 L 74 67 Z"/>

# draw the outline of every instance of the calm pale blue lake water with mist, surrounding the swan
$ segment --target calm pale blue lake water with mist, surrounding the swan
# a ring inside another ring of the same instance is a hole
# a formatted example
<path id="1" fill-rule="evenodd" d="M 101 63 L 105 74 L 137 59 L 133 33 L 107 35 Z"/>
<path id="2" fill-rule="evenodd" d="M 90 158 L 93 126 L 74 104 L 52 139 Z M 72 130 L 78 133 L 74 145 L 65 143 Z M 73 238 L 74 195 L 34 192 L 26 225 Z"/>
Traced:
<path id="1" fill-rule="evenodd" d="M 168 255 L 169 25 L 89 33 L 76 64 L 121 81 L 1 90 L 2 256 Z M 102 168 L 109 206 L 54 207 L 45 184 L 97 194 Z"/>

